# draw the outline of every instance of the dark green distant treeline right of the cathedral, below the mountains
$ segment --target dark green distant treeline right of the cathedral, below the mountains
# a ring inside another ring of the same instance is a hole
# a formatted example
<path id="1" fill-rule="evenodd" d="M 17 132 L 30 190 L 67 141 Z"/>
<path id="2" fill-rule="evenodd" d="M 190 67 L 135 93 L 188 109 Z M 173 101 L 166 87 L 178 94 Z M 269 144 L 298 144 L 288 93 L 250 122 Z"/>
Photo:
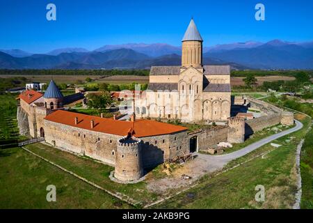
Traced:
<path id="1" fill-rule="evenodd" d="M 289 76 L 294 77 L 298 72 L 307 73 L 313 77 L 313 70 L 232 70 L 232 77 L 246 77 L 247 75 L 254 75 L 256 77 L 263 76 Z"/>

